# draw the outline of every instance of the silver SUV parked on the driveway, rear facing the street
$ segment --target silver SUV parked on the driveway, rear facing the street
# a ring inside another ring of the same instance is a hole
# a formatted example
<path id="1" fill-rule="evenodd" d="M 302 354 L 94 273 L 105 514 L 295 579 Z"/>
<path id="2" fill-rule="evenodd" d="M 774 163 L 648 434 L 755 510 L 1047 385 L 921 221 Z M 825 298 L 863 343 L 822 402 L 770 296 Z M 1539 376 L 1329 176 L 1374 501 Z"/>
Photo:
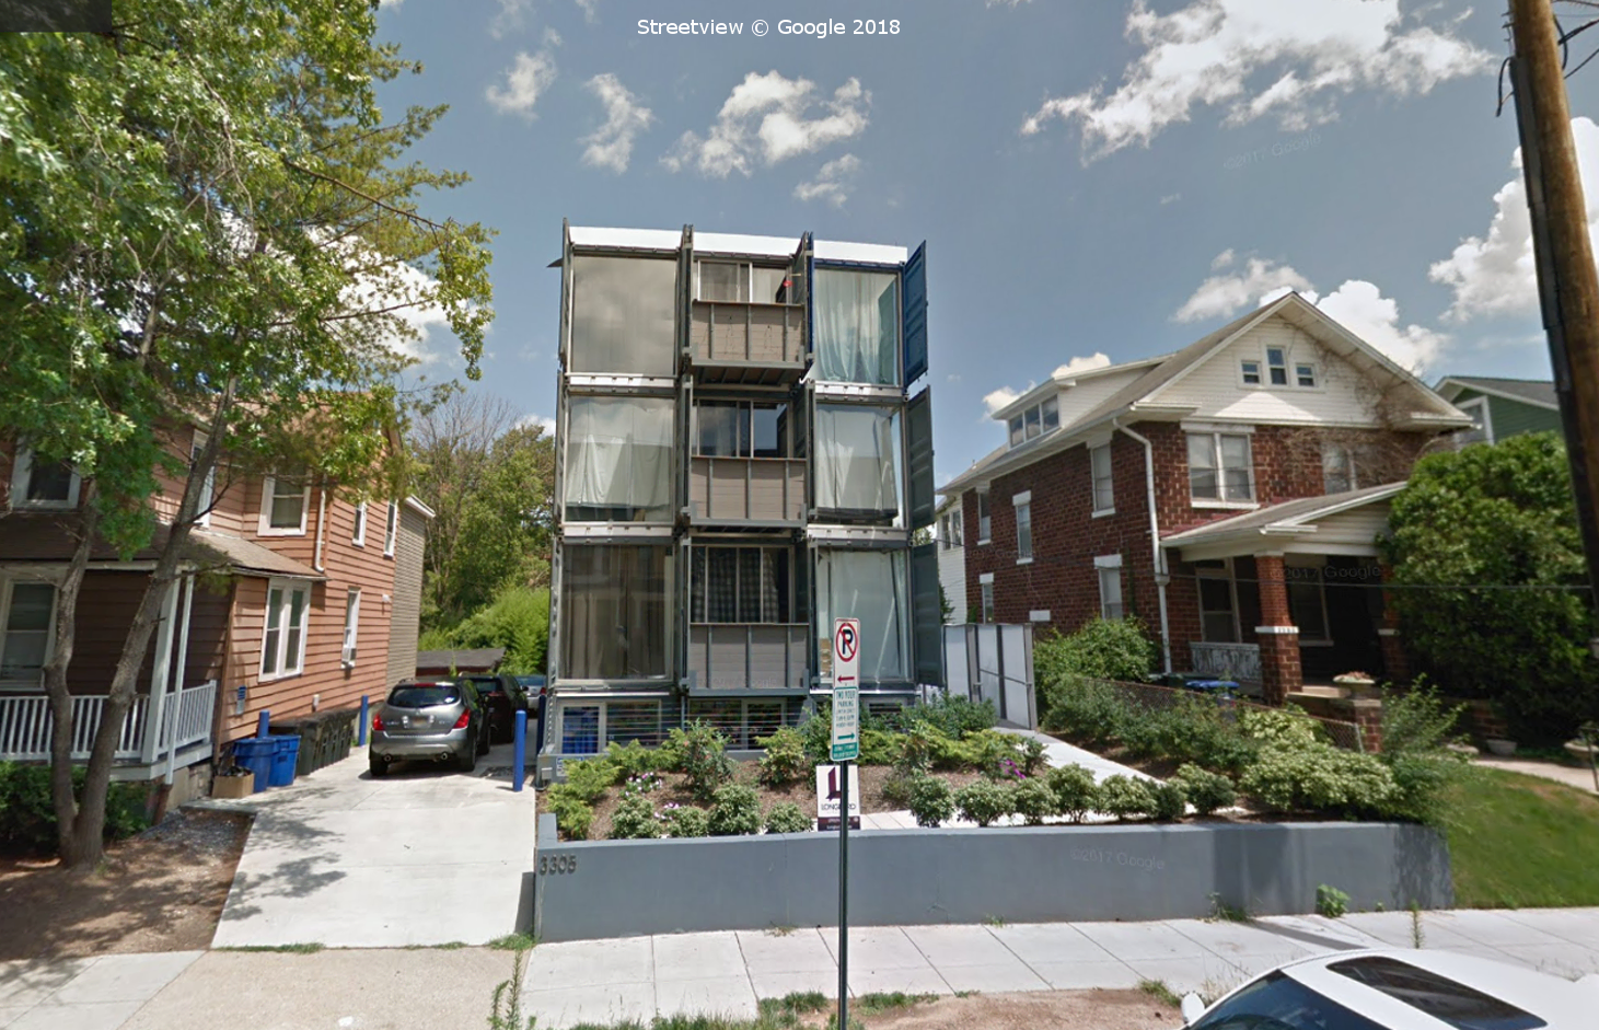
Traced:
<path id="1" fill-rule="evenodd" d="M 489 750 L 489 720 L 483 697 L 469 681 L 405 680 L 373 718 L 368 752 L 373 776 L 405 760 L 454 761 L 462 772 L 478 766 Z"/>

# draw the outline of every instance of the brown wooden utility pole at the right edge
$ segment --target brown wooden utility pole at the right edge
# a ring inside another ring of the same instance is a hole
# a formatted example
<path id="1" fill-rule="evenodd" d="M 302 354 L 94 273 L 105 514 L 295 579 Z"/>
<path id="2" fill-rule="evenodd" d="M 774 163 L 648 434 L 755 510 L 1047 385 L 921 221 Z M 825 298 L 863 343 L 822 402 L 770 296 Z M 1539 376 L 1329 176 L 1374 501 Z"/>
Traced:
<path id="1" fill-rule="evenodd" d="M 1532 213 L 1538 302 L 1549 336 L 1554 392 L 1577 493 L 1577 521 L 1588 555 L 1589 589 L 1599 590 L 1599 277 L 1588 238 L 1565 70 L 1551 0 L 1509 0 L 1511 88 L 1521 162 Z M 1599 595 L 1596 595 L 1599 611 Z M 1589 627 L 1599 657 L 1599 633 Z"/>

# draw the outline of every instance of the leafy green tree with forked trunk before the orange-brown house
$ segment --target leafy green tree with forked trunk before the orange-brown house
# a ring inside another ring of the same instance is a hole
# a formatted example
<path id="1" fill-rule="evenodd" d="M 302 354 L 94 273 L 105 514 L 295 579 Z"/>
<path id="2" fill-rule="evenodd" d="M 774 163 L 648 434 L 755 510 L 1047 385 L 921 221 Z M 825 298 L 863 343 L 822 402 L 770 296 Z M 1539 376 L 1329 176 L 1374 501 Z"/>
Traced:
<path id="1" fill-rule="evenodd" d="M 384 118 L 377 83 L 419 67 L 374 45 L 376 6 L 126 0 L 109 34 L 0 34 L 0 425 L 83 483 L 45 669 L 69 865 L 101 857 L 118 729 L 217 456 L 395 496 L 393 441 L 430 400 L 398 385 L 406 315 L 441 310 L 477 377 L 491 234 L 421 213 L 465 176 L 401 163 L 445 109 Z M 192 461 L 182 422 L 208 432 Z M 157 536 L 163 465 L 185 485 Z M 66 685 L 98 537 L 160 553 L 75 792 Z"/>

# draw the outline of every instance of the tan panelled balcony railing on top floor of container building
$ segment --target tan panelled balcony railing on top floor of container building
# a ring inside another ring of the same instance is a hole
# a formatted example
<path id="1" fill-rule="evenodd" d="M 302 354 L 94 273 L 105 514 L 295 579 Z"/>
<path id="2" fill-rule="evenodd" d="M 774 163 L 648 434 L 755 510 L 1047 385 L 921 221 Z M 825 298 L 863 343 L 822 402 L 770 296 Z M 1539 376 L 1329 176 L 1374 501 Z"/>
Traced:
<path id="1" fill-rule="evenodd" d="M 696 301 L 689 361 L 700 382 L 784 384 L 804 374 L 804 307 Z"/>

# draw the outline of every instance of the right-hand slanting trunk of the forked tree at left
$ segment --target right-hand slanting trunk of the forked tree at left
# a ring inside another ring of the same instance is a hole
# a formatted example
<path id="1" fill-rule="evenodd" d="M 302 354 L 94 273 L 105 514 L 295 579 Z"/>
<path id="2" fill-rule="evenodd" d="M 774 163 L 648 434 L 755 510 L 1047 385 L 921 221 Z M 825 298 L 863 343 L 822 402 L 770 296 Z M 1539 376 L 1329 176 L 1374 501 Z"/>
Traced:
<path id="1" fill-rule="evenodd" d="M 233 411 L 233 381 L 229 381 L 217 398 L 211 416 L 211 427 L 206 445 L 200 448 L 189 465 L 189 478 L 184 481 L 184 497 L 173 518 L 166 547 L 155 560 L 155 571 L 150 573 L 144 597 L 128 627 L 128 637 L 122 645 L 122 656 L 117 659 L 117 670 L 112 673 L 110 691 L 101 713 L 99 729 L 94 733 L 94 745 L 90 750 L 88 774 L 83 782 L 83 796 L 78 800 L 77 820 L 72 825 L 72 840 L 62 849 L 62 859 L 70 867 L 93 868 L 99 865 L 106 854 L 106 800 L 110 793 L 110 771 L 117 760 L 117 744 L 122 737 L 122 720 L 133 707 L 134 688 L 139 683 L 139 669 L 150 651 L 150 637 L 160 622 L 161 608 L 166 603 L 166 592 L 177 589 L 177 566 L 184 560 L 189 536 L 193 531 L 197 512 L 200 509 L 200 493 L 205 480 L 216 467 L 222 438 L 227 435 L 227 422 Z M 182 675 L 182 670 L 179 670 Z M 154 705 L 152 705 L 154 710 Z M 146 733 L 158 733 L 154 725 L 146 726 Z"/>

